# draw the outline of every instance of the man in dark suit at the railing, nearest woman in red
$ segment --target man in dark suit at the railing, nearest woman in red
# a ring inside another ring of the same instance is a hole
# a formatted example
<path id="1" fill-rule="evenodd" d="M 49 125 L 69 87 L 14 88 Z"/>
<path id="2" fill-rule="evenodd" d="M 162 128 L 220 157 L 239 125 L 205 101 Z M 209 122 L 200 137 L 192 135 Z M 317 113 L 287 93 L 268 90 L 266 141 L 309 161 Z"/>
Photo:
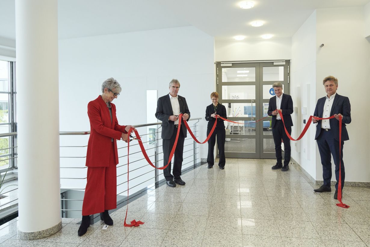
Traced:
<path id="1" fill-rule="evenodd" d="M 174 146 L 177 130 L 179 127 L 179 114 L 182 113 L 182 120 L 188 121 L 190 111 L 184 97 L 177 93 L 180 89 L 180 83 L 176 79 L 172 79 L 169 83 L 169 94 L 158 99 L 157 111 L 155 117 L 162 121 L 162 141 L 163 141 L 163 164 L 168 162 L 169 154 Z M 184 150 L 184 140 L 186 138 L 186 127 L 184 124 L 180 126 L 181 130 L 175 149 L 174 169 L 171 174 L 171 161 L 163 170 L 163 175 L 166 178 L 166 184 L 169 187 L 176 187 L 176 184 L 185 185 L 181 179 L 182 153 Z M 175 184 L 176 183 L 176 184 Z"/>

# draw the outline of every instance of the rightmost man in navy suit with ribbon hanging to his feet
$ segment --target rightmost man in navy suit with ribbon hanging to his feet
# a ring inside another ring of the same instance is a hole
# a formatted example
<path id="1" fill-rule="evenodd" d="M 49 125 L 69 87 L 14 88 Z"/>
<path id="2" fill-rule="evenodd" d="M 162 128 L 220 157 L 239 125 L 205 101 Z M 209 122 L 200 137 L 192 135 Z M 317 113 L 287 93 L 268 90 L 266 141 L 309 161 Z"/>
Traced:
<path id="1" fill-rule="evenodd" d="M 334 199 L 338 196 L 338 181 L 339 181 L 339 161 L 341 170 L 342 189 L 344 186 L 344 163 L 343 163 L 343 144 L 344 141 L 349 140 L 346 124 L 351 123 L 351 104 L 348 97 L 337 94 L 338 79 L 334 76 L 325 77 L 323 80 L 324 88 L 327 96 L 317 100 L 315 117 L 330 117 L 335 116 L 335 119 L 316 120 L 312 119 L 316 125 L 317 146 L 319 147 L 321 164 L 323 166 L 323 180 L 324 184 L 315 189 L 315 192 L 330 192 L 330 180 L 332 180 L 332 163 L 330 153 L 333 155 L 335 164 L 335 177 L 337 183 L 335 184 Z M 339 116 L 342 117 L 342 137 L 340 143 L 340 158 L 339 158 Z"/>

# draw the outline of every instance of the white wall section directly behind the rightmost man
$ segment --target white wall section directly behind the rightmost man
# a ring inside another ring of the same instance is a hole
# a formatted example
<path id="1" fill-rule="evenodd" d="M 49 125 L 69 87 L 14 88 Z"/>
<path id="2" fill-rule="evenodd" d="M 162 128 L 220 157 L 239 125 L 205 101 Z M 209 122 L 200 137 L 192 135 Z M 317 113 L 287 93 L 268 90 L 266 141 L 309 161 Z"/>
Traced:
<path id="1" fill-rule="evenodd" d="M 368 7 L 368 6 L 367 6 Z M 338 78 L 337 93 L 351 103 L 352 122 L 347 125 L 350 140 L 344 142 L 343 161 L 346 181 L 370 181 L 370 43 L 364 38 L 363 7 L 318 9 L 316 47 L 316 100 L 326 95 L 322 79 Z M 367 24 L 369 27 L 369 24 Z M 316 162 L 317 180 L 322 180 L 319 155 Z M 334 166 L 333 166 L 334 174 Z M 335 177 L 332 178 L 335 180 Z"/>

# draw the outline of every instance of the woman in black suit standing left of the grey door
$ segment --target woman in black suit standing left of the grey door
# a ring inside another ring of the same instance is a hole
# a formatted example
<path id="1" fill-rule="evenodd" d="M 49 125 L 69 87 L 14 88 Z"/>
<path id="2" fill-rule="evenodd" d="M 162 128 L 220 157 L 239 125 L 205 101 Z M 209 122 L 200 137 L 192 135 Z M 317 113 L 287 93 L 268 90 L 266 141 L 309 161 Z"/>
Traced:
<path id="1" fill-rule="evenodd" d="M 226 108 L 222 104 L 218 103 L 218 93 L 213 92 L 211 93 L 211 100 L 212 104 L 207 106 L 206 108 L 206 120 L 208 121 L 207 126 L 207 136 L 211 132 L 213 124 L 216 121 L 216 114 L 223 117 L 226 117 Z M 216 135 L 217 135 L 217 147 L 218 147 L 218 166 L 220 169 L 225 169 L 225 124 L 223 123 L 222 119 L 217 119 L 217 124 L 215 131 L 213 131 L 212 136 L 208 140 L 208 156 L 207 156 L 207 163 L 208 168 L 212 168 L 213 164 L 215 163 L 215 158 L 213 156 L 213 149 L 215 148 L 216 143 Z"/>

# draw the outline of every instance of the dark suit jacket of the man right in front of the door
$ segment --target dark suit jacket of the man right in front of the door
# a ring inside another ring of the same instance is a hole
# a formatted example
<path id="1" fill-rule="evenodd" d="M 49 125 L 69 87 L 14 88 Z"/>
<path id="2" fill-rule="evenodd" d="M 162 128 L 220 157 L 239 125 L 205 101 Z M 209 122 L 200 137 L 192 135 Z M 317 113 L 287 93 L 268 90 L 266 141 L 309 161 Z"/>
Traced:
<path id="1" fill-rule="evenodd" d="M 281 111 L 283 113 L 283 118 L 284 118 L 284 124 L 285 124 L 285 126 L 286 127 L 293 126 L 292 117 L 290 116 L 290 114 L 293 113 L 293 100 L 292 100 L 292 96 L 290 96 L 289 94 L 283 93 L 283 98 L 281 100 L 280 109 L 281 109 Z M 271 114 L 275 110 L 276 110 L 276 96 L 270 98 L 270 101 L 269 101 L 269 109 L 268 109 L 268 112 L 267 113 L 268 114 Z M 272 128 L 275 126 L 276 116 L 272 115 L 272 122 L 271 122 L 271 127 Z"/>

